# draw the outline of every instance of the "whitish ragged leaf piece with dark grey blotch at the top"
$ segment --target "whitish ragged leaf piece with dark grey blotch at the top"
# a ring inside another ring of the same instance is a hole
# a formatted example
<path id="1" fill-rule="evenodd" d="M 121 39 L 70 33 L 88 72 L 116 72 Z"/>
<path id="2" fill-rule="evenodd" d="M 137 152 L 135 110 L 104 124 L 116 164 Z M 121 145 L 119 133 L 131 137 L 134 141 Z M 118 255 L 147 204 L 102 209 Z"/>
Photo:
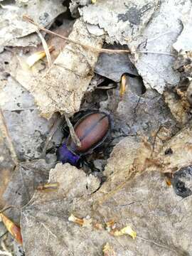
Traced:
<path id="1" fill-rule="evenodd" d="M 78 1 L 77 1 L 78 4 Z M 98 1 L 97 4 L 79 8 L 86 23 L 104 28 L 106 41 L 127 44 L 139 36 L 149 22 L 158 1 Z M 100 14 L 100 16 L 97 16 Z M 90 31 L 91 32 L 91 31 Z"/>

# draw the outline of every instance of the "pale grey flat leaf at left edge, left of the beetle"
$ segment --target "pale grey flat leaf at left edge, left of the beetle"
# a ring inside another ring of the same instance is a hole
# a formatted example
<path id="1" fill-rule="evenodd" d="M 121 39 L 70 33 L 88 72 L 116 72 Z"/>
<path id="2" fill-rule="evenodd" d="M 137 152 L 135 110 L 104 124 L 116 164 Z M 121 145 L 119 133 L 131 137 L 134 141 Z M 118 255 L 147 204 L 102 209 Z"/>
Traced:
<path id="1" fill-rule="evenodd" d="M 18 160 L 40 157 L 57 115 L 49 121 L 40 117 L 31 94 L 11 77 L 0 91 L 0 105 Z M 58 130 L 50 146 L 60 143 L 61 137 Z"/>

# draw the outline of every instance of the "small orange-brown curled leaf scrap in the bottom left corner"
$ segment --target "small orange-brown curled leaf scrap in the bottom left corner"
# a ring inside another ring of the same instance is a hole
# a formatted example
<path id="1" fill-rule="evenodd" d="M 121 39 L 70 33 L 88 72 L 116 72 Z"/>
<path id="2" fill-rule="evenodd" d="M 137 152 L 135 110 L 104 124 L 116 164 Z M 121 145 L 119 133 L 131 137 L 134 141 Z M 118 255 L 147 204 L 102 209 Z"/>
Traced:
<path id="1" fill-rule="evenodd" d="M 2 222 L 6 226 L 6 229 L 9 231 L 9 233 L 16 239 L 16 241 L 20 245 L 22 245 L 23 244 L 23 240 L 22 240 L 22 236 L 21 236 L 21 228 L 18 227 L 18 225 L 16 225 L 13 221 L 11 221 L 3 213 L 0 213 L 0 216 L 1 216 Z"/>

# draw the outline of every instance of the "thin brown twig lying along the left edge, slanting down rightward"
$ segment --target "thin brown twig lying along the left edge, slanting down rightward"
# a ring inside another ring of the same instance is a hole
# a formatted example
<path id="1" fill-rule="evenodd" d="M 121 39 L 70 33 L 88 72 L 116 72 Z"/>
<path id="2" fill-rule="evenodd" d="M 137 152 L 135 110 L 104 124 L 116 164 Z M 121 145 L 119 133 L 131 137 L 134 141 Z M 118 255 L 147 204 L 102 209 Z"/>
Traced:
<path id="1" fill-rule="evenodd" d="M 0 121 L 2 122 L 2 124 L 0 123 L 0 129 L 1 129 L 1 132 L 5 135 L 5 137 L 7 139 L 7 142 L 9 143 L 9 150 L 11 152 L 11 157 L 12 157 L 14 163 L 18 164 L 18 158 L 17 158 L 17 155 L 16 155 L 16 151 L 14 149 L 14 144 L 11 140 L 10 135 L 9 135 L 9 130 L 6 126 L 6 120 L 5 120 L 5 117 L 4 117 L 4 113 L 1 110 L 1 107 L 0 107 Z"/>

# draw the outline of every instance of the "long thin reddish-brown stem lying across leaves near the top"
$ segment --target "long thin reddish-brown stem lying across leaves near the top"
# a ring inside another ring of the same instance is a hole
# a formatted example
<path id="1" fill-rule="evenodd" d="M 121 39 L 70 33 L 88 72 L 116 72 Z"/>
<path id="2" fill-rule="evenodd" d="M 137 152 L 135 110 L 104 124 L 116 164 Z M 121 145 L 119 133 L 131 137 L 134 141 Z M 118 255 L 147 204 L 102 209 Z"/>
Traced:
<path id="1" fill-rule="evenodd" d="M 92 51 L 95 51 L 95 52 L 98 52 L 98 53 L 112 53 L 112 54 L 113 53 L 130 53 L 130 50 L 112 50 L 112 49 L 103 49 L 103 48 L 96 48 L 96 47 L 93 47 L 93 46 L 87 46 L 87 45 L 82 44 L 80 42 L 73 41 L 72 39 L 67 38 L 65 36 L 61 36 L 60 34 L 55 33 L 53 31 L 50 31 L 46 28 L 43 28 L 43 26 L 40 26 L 38 23 L 36 23 L 35 21 L 33 21 L 31 18 L 29 18 L 26 15 L 23 15 L 23 19 L 24 19 L 24 21 L 28 21 L 28 22 L 32 23 L 33 25 L 37 26 L 38 29 L 40 29 L 42 31 L 45 31 L 46 33 L 50 33 L 54 36 L 58 36 L 59 38 L 62 38 L 63 40 L 68 41 L 69 43 L 75 43 L 76 45 L 82 46 L 83 48 L 87 48 L 88 50 L 92 50 Z"/>

